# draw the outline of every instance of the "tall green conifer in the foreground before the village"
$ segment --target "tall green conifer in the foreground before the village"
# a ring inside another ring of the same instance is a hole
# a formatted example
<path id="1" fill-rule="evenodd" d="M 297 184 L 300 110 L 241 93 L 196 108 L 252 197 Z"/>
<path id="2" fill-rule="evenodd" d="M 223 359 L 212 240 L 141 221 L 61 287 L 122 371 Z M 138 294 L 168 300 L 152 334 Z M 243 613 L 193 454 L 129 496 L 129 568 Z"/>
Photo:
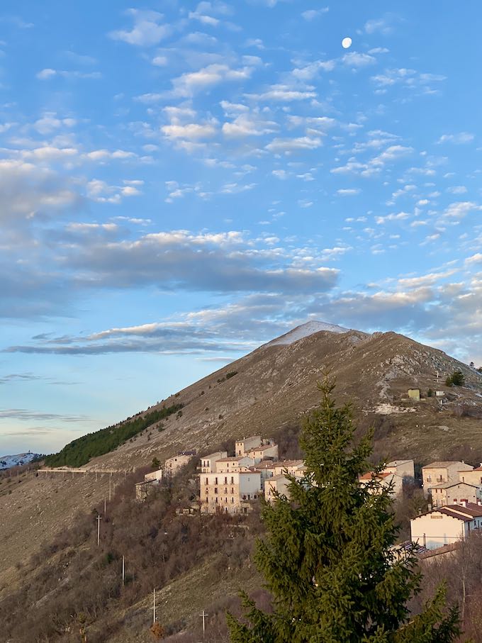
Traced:
<path id="1" fill-rule="evenodd" d="M 255 561 L 271 592 L 273 613 L 242 594 L 245 619 L 228 614 L 232 643 L 448 643 L 459 615 L 445 613 L 439 588 L 420 615 L 408 600 L 420 587 L 415 558 L 398 556 L 390 490 L 366 486 L 372 432 L 354 444 L 348 405 L 337 408 L 334 383 L 318 384 L 320 407 L 306 419 L 301 447 L 306 476 L 291 476 L 289 499 L 265 503 L 267 536 Z"/>

